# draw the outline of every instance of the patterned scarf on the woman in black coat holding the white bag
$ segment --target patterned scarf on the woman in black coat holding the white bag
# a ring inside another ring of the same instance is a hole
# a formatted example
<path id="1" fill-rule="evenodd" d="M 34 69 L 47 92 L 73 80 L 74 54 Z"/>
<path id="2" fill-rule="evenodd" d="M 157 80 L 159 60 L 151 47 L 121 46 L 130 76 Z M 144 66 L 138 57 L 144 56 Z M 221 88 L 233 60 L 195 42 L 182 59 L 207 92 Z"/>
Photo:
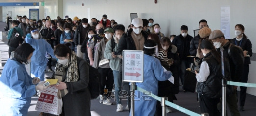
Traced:
<path id="1" fill-rule="evenodd" d="M 59 62 L 56 64 L 55 73 L 63 74 L 64 68 L 68 68 L 66 82 L 75 82 L 79 79 L 78 66 L 77 66 L 77 55 L 72 51 L 70 60 L 67 65 L 62 65 Z"/>

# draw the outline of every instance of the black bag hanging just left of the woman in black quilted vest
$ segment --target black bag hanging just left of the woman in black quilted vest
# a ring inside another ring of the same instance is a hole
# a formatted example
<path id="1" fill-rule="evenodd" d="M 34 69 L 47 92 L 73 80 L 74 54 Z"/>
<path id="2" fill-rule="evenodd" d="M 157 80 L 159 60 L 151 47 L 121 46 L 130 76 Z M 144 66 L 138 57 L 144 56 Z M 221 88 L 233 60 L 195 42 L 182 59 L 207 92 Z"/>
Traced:
<path id="1" fill-rule="evenodd" d="M 195 92 L 196 91 L 196 85 L 197 85 L 197 79 L 196 79 L 196 73 L 194 70 L 195 63 L 192 65 L 191 70 L 186 70 L 185 71 L 185 76 L 184 76 L 184 85 L 183 89 L 189 92 Z"/>

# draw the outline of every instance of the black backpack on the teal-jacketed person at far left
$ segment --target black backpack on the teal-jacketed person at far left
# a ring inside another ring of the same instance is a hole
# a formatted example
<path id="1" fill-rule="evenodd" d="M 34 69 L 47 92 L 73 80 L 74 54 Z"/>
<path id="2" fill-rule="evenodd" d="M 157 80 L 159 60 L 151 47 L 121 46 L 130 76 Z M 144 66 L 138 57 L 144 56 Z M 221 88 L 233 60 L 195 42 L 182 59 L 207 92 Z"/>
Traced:
<path id="1" fill-rule="evenodd" d="M 21 34 L 19 34 L 18 31 L 15 28 L 13 28 L 11 38 L 8 40 L 8 43 L 7 43 L 8 46 L 17 48 L 19 44 L 21 44 L 22 42 L 23 42 L 23 39 Z"/>

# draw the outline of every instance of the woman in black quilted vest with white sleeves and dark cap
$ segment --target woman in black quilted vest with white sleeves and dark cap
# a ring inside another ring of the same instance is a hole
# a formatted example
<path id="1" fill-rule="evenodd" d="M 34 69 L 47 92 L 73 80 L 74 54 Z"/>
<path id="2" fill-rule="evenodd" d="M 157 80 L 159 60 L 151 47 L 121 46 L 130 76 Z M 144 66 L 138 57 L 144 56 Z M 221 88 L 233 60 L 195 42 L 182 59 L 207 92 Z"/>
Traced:
<path id="1" fill-rule="evenodd" d="M 200 112 L 208 113 L 209 116 L 220 116 L 217 104 L 220 102 L 222 88 L 221 56 L 209 40 L 203 40 L 200 49 L 204 58 L 200 65 L 200 72 L 195 71 Z"/>

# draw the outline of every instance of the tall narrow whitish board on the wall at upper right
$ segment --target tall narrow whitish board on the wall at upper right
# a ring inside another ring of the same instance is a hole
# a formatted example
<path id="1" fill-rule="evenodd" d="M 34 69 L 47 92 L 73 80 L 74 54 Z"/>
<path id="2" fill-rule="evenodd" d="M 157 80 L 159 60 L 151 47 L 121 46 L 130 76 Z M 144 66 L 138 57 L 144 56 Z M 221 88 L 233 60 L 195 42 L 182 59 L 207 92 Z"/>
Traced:
<path id="1" fill-rule="evenodd" d="M 225 39 L 230 39 L 230 7 L 221 7 L 221 31 Z"/>

